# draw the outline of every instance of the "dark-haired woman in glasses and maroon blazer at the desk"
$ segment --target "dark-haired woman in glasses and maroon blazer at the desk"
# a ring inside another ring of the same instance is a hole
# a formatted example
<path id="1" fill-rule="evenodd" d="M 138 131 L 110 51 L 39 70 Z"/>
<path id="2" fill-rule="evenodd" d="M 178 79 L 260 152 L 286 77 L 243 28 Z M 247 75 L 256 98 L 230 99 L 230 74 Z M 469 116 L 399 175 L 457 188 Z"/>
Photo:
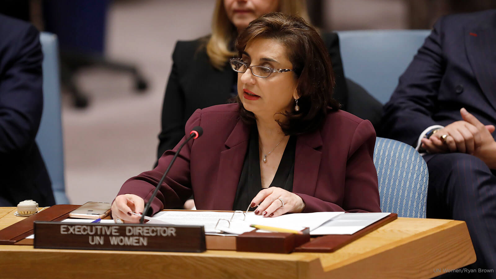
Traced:
<path id="1" fill-rule="evenodd" d="M 258 205 L 255 214 L 267 217 L 380 211 L 374 129 L 338 110 L 318 32 L 298 16 L 269 13 L 248 25 L 236 48 L 239 58 L 230 64 L 238 72 L 237 103 L 193 113 L 187 134 L 201 126 L 203 136 L 180 151 L 147 213 L 181 206 L 192 193 L 197 209 Z M 138 222 L 130 212 L 143 210 L 176 148 L 124 183 L 114 218 Z"/>

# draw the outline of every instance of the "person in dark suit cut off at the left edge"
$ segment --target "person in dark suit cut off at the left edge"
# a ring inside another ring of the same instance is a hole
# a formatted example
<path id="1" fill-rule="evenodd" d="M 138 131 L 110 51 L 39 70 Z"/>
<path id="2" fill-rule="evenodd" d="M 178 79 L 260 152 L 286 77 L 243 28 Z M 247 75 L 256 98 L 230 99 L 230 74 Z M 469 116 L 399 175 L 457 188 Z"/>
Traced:
<path id="1" fill-rule="evenodd" d="M 0 14 L 0 207 L 30 199 L 55 204 L 35 142 L 43 109 L 39 32 Z"/>

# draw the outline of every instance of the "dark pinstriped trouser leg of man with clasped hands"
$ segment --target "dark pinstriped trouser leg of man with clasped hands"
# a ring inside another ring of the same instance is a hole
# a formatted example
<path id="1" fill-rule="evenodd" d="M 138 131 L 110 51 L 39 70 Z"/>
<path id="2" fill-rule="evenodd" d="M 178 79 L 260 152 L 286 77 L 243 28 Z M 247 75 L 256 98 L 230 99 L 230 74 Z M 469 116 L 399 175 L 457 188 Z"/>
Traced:
<path id="1" fill-rule="evenodd" d="M 429 168 L 427 217 L 465 221 L 477 255 L 468 268 L 496 270 L 495 174 L 483 161 L 464 153 L 424 158 Z M 471 276 L 496 278 L 496 272 Z"/>

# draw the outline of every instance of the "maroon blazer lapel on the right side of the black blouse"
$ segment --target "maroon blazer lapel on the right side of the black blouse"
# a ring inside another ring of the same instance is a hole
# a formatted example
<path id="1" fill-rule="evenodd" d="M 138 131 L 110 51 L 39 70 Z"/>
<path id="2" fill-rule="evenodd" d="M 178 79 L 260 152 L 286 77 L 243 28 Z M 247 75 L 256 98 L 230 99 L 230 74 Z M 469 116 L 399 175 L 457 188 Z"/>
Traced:
<path id="1" fill-rule="evenodd" d="M 317 175 L 322 152 L 320 131 L 298 136 L 295 151 L 295 174 L 293 192 L 313 196 L 317 185 Z"/>

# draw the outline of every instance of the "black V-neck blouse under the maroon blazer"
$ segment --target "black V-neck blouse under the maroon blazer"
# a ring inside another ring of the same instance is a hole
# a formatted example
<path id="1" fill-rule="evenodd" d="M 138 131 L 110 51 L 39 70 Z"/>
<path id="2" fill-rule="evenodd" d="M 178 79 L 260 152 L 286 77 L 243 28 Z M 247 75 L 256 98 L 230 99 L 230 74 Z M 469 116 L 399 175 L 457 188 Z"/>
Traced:
<path id="1" fill-rule="evenodd" d="M 253 125 L 248 142 L 248 151 L 243 163 L 240 182 L 236 190 L 233 210 L 247 210 L 251 200 L 262 190 L 260 176 L 260 157 L 258 152 L 258 130 Z M 286 191 L 293 191 L 293 176 L 295 173 L 296 137 L 291 136 L 286 144 L 281 162 L 277 167 L 274 179 L 269 187 L 280 187 Z M 267 157 L 270 160 L 270 155 Z"/>

